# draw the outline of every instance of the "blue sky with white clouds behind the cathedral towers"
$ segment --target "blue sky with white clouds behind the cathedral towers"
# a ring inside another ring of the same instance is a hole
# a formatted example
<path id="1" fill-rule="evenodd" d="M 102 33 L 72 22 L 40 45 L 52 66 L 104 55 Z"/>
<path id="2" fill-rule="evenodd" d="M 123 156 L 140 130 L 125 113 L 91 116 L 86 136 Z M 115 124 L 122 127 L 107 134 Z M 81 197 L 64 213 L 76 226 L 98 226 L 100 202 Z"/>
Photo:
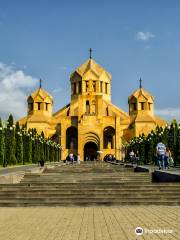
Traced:
<path id="1" fill-rule="evenodd" d="M 128 110 L 143 87 L 156 113 L 180 120 L 179 0 L 0 0 L 0 115 L 26 114 L 38 87 L 54 111 L 70 100 L 70 73 L 89 56 L 112 74 L 112 101 Z"/>

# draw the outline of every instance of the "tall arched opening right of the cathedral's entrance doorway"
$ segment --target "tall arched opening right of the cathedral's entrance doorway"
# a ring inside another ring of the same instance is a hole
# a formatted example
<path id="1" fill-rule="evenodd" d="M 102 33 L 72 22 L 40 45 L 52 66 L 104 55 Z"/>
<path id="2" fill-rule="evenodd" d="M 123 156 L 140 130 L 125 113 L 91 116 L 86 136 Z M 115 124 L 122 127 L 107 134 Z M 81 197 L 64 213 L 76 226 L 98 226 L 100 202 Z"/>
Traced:
<path id="1" fill-rule="evenodd" d="M 115 148 L 115 129 L 106 127 L 103 131 L 104 149 Z"/>

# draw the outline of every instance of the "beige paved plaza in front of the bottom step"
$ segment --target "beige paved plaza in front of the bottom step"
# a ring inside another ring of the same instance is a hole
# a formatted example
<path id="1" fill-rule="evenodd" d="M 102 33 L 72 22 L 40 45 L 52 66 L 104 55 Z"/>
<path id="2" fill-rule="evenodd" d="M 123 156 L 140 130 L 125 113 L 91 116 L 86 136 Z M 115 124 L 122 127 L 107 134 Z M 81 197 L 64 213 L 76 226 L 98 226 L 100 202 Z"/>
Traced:
<path id="1" fill-rule="evenodd" d="M 135 228 L 172 233 L 135 234 Z M 180 207 L 0 208 L 0 240 L 180 239 Z"/>

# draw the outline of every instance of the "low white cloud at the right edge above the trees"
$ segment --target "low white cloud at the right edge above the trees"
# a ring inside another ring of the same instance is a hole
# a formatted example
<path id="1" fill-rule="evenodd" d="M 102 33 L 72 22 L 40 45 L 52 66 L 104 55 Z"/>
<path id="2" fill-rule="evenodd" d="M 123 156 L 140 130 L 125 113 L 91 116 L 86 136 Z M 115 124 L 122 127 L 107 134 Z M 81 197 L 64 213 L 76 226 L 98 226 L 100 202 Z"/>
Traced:
<path id="1" fill-rule="evenodd" d="M 163 108 L 163 109 L 156 109 L 156 114 L 167 119 L 177 119 L 180 120 L 180 107 L 179 108 Z"/>

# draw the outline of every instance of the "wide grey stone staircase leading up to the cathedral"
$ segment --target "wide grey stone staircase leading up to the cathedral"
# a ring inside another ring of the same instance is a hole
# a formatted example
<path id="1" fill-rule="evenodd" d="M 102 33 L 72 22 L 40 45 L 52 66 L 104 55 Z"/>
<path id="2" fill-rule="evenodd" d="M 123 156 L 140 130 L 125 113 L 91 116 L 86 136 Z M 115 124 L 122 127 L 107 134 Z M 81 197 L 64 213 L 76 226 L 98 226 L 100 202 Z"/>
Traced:
<path id="1" fill-rule="evenodd" d="M 180 183 L 108 163 L 61 165 L 0 184 L 0 206 L 180 205 Z"/>

